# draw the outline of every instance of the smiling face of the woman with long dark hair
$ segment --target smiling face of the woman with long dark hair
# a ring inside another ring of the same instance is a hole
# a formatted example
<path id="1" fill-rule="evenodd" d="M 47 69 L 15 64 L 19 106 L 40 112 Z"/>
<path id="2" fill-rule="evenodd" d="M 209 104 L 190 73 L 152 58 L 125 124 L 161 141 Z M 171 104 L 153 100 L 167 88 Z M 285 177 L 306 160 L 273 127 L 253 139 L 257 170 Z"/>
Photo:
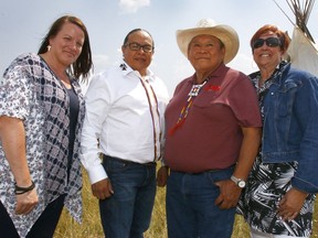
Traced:
<path id="1" fill-rule="evenodd" d="M 55 36 L 50 39 L 50 54 L 55 64 L 68 67 L 82 52 L 85 41 L 83 30 L 71 22 L 65 22 Z"/>

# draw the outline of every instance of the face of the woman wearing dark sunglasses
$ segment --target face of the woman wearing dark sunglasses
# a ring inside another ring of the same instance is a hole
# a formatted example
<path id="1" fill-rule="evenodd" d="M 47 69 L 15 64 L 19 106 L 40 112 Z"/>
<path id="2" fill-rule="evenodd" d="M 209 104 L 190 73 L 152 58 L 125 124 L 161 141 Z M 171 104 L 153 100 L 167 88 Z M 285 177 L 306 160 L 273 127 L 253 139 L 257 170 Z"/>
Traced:
<path id="1" fill-rule="evenodd" d="M 264 34 L 261 34 L 258 39 L 266 40 L 269 37 L 278 39 L 278 35 L 269 31 Z M 274 71 L 275 67 L 280 63 L 282 57 L 283 57 L 283 51 L 280 45 L 268 46 L 264 42 L 262 46 L 253 48 L 253 58 L 259 69 L 264 68 L 266 71 Z"/>

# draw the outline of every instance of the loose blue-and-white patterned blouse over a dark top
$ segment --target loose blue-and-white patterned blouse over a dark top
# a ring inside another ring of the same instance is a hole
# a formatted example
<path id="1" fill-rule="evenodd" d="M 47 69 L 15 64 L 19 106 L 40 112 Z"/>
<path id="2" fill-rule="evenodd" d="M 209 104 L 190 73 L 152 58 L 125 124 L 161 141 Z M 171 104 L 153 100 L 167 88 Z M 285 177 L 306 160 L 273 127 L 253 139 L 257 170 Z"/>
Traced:
<path id="1" fill-rule="evenodd" d="M 0 116 L 23 120 L 26 160 L 36 185 L 39 205 L 29 215 L 15 215 L 14 177 L 0 144 L 0 199 L 21 237 L 25 237 L 45 206 L 66 194 L 65 207 L 82 219 L 80 136 L 85 105 L 78 80 L 72 79 L 80 112 L 73 162 L 67 174 L 70 98 L 67 90 L 36 54 L 23 54 L 7 68 L 0 82 Z"/>

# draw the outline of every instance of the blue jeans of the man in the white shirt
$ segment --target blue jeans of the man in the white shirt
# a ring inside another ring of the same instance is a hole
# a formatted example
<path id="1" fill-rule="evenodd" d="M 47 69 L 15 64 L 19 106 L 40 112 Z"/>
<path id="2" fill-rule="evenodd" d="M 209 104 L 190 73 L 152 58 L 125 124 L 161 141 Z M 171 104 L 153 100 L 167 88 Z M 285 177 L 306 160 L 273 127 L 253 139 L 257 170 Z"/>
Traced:
<path id="1" fill-rule="evenodd" d="M 142 238 L 155 203 L 156 163 L 138 164 L 104 156 L 103 166 L 114 190 L 114 195 L 99 201 L 105 236 Z"/>

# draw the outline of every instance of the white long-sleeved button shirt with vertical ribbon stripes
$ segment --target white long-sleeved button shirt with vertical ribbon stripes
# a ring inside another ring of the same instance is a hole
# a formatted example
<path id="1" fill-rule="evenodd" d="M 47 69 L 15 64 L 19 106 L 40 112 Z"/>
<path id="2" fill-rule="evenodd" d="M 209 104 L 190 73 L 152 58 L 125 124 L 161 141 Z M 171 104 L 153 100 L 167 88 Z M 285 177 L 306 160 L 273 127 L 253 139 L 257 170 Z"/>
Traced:
<path id="1" fill-rule="evenodd" d="M 123 63 L 93 77 L 85 95 L 82 163 L 91 183 L 107 177 L 99 153 L 137 163 L 160 159 L 168 90 L 160 78 Z"/>

